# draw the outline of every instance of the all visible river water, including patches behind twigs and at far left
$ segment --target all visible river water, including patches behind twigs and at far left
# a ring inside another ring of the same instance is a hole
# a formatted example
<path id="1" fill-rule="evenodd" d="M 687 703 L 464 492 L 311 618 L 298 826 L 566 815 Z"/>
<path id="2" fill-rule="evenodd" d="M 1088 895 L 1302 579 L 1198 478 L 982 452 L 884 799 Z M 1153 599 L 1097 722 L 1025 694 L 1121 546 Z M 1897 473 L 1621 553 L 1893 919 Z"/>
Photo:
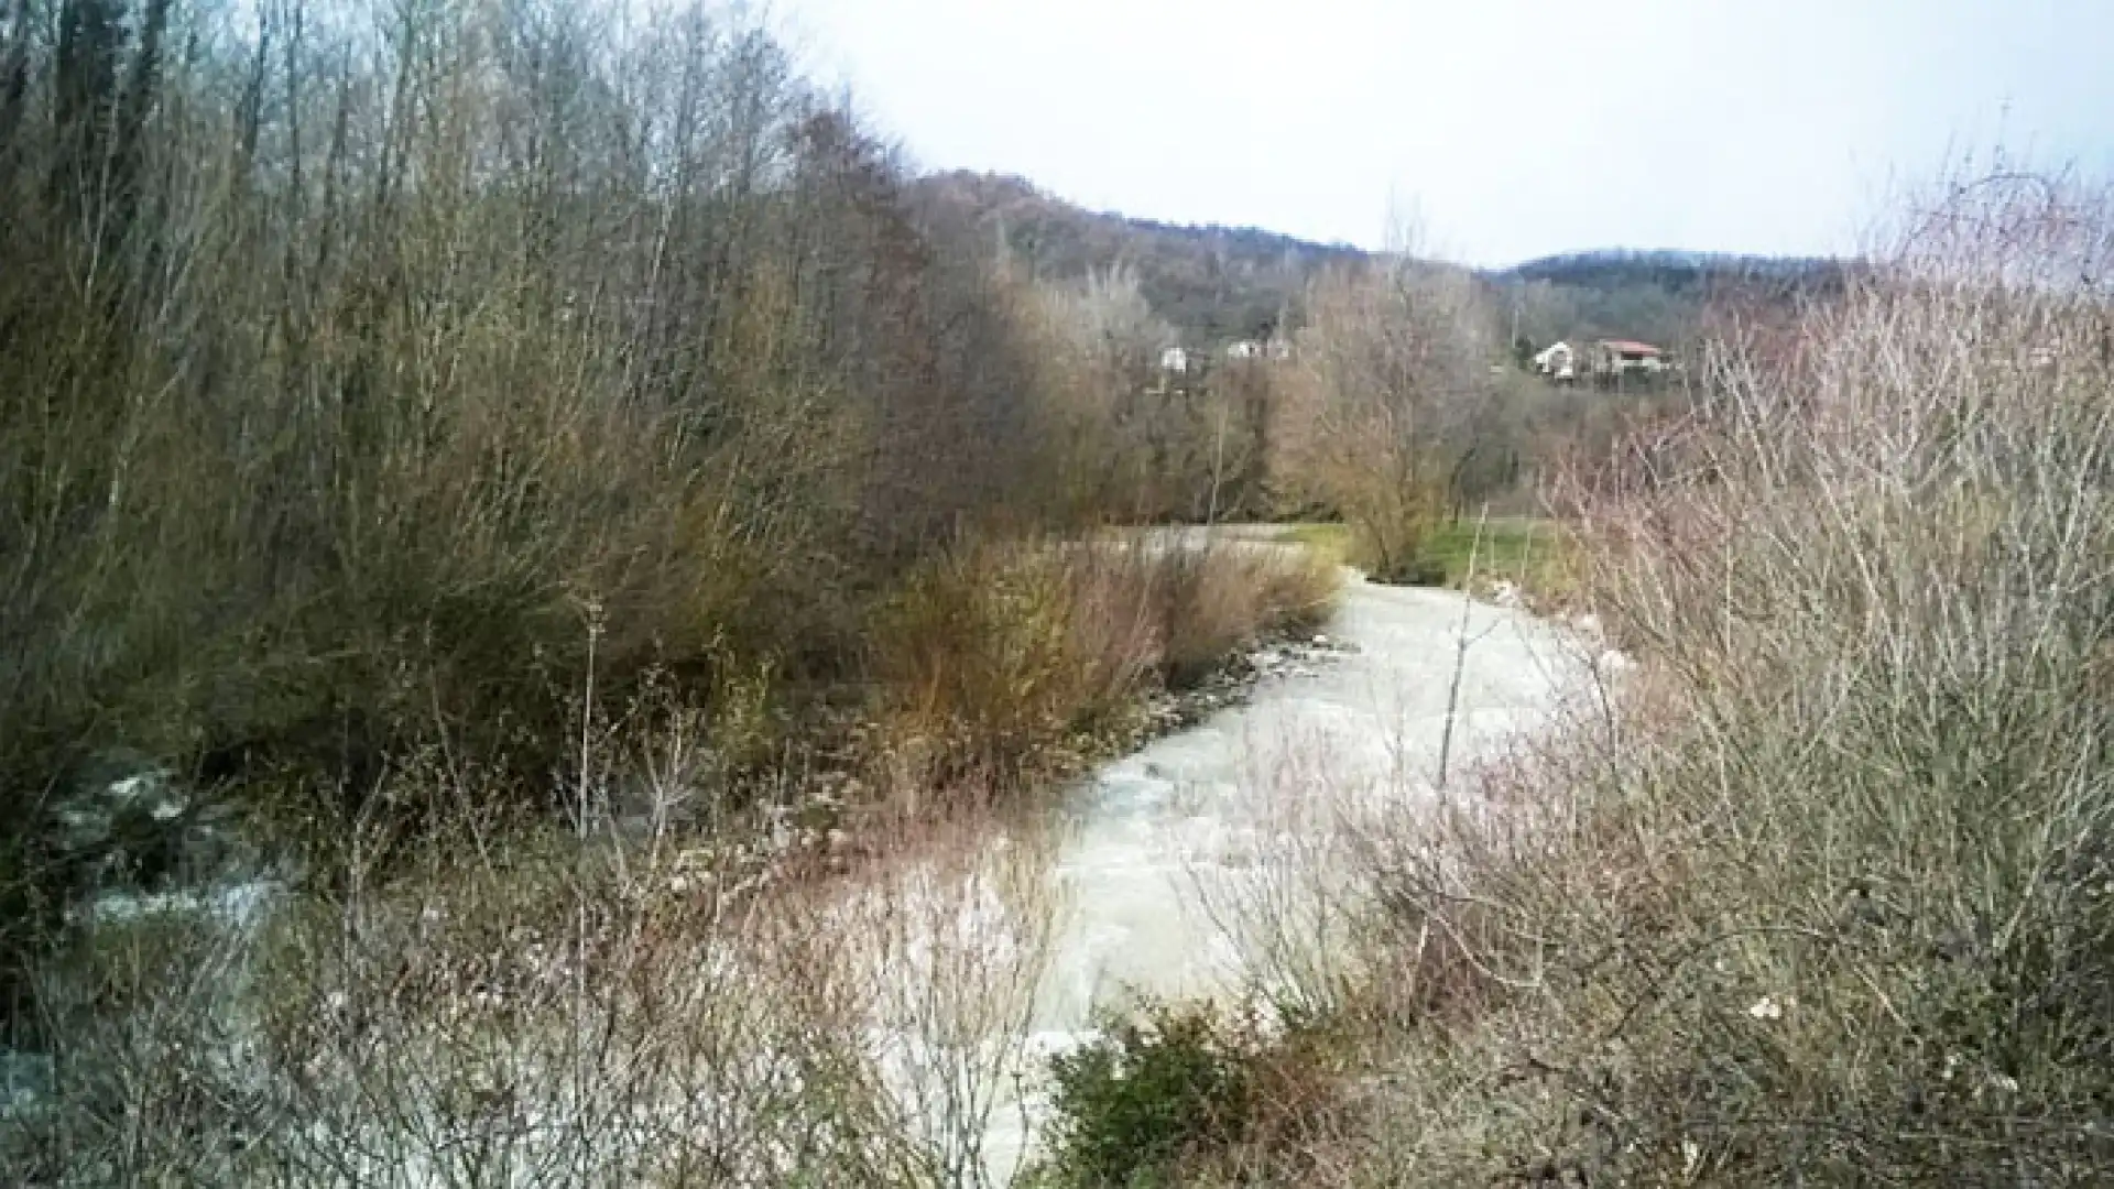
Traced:
<path id="1" fill-rule="evenodd" d="M 1169 548 L 1188 542 L 1175 537 Z M 1351 578 L 1325 639 L 1260 658 L 1264 677 L 1243 702 L 1082 781 L 1055 859 L 1040 846 L 970 846 L 975 872 L 966 878 L 926 872 L 888 889 L 894 895 L 848 901 L 843 927 L 871 935 L 877 965 L 892 971 L 879 984 L 896 999 L 875 1030 L 879 1049 L 901 1066 L 894 1075 L 903 1085 L 958 1077 L 951 1085 L 962 1090 L 960 1068 L 981 1056 L 949 1068 L 928 1064 L 924 1075 L 917 1062 L 1017 1035 L 1021 1011 L 1030 1018 L 1025 1064 L 1034 1066 L 1042 1054 L 1091 1037 L 1099 1007 L 1120 1007 L 1133 994 L 1224 996 L 1251 986 L 1266 973 L 1262 965 L 1283 958 L 1287 935 L 1306 950 L 1302 961 L 1328 963 L 1332 933 L 1309 929 L 1298 903 L 1275 901 L 1279 925 L 1294 927 L 1262 937 L 1260 948 L 1226 903 L 1283 891 L 1273 880 L 1304 838 L 1347 819 L 1372 821 L 1364 815 L 1421 812 L 1438 795 L 1442 751 L 1459 779 L 1507 738 L 1541 728 L 1566 694 L 1590 688 L 1594 664 L 1581 647 L 1590 635 L 1457 592 Z M 1059 895 L 1044 895 L 1051 884 Z M 1030 891 L 1017 895 L 1023 886 Z M 249 927 L 273 895 L 266 884 L 241 884 L 106 897 L 93 912 L 114 920 L 203 912 Z M 1038 899 L 1063 906 L 1055 935 L 1027 929 L 1034 939 L 1008 950 L 1017 939 L 1008 931 L 1034 916 Z M 975 954 L 989 961 L 979 965 Z M 937 1011 L 937 1001 L 947 1009 Z M 926 1032 L 917 1032 L 920 1022 Z M 934 1022 L 958 1030 L 932 1032 Z M 1019 1066 L 1019 1058 L 998 1064 Z M 51 1079 L 49 1058 L 0 1049 L 0 1121 L 47 1096 Z M 983 1085 L 939 1104 L 930 1096 L 913 1102 L 922 1117 L 949 1119 L 949 1142 L 939 1147 L 966 1161 L 941 1181 L 981 1174 L 1004 1185 L 1030 1151 L 1042 1109 L 1034 1092 L 1013 1100 L 1000 1090 L 998 1109 L 985 1111 L 991 1083 Z M 966 1098 L 975 1104 L 964 1106 Z M 410 1170 L 416 1157 L 404 1161 L 402 1183 L 421 1183 Z"/>

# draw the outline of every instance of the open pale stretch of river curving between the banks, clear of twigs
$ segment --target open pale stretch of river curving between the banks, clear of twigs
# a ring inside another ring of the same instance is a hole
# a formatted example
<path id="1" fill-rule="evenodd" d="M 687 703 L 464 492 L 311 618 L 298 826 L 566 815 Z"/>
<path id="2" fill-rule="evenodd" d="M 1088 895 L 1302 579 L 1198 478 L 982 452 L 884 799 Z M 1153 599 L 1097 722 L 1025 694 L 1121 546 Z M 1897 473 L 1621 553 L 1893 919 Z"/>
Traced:
<path id="1" fill-rule="evenodd" d="M 1359 578 L 1321 643 L 1325 658 L 1279 666 L 1245 702 L 1108 764 L 1076 793 L 1036 1051 L 1087 1037 L 1097 1005 L 1133 992 L 1241 986 L 1245 948 L 1203 889 L 1232 886 L 1239 899 L 1243 880 L 1296 846 L 1287 834 L 1332 829 L 1340 815 L 1319 810 L 1347 798 L 1418 812 L 1438 795 L 1442 751 L 1459 783 L 1478 757 L 1547 724 L 1594 669 L 1577 633 L 1524 611 Z M 994 1183 L 1019 1164 L 1027 1132 L 1019 1109 L 994 1121 Z"/>

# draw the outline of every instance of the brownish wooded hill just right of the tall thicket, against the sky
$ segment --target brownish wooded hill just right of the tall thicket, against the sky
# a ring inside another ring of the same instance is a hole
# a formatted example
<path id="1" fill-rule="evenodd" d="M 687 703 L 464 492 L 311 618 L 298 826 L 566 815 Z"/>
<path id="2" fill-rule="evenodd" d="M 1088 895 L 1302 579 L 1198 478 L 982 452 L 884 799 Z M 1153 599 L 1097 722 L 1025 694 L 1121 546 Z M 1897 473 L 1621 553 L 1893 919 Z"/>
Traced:
<path id="1" fill-rule="evenodd" d="M 934 173 L 911 188 L 928 220 L 1004 243 L 1044 279 L 1127 267 L 1194 345 L 1264 336 L 1330 262 L 1366 254 L 1251 226 L 1177 226 L 1091 212 L 1000 173 Z"/>

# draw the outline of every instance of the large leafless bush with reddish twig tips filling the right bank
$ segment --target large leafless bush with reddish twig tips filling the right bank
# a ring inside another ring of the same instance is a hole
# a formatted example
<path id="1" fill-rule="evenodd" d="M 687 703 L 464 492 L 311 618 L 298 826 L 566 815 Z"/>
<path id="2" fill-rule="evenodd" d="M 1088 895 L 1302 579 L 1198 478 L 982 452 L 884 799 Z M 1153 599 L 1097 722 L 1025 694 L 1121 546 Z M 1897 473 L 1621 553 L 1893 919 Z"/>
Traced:
<path id="1" fill-rule="evenodd" d="M 1349 1183 L 2095 1183 L 2110 237 L 1998 176 L 1588 493 L 1613 719 L 1368 836 Z M 1387 965 L 1395 971 L 1395 965 Z"/>

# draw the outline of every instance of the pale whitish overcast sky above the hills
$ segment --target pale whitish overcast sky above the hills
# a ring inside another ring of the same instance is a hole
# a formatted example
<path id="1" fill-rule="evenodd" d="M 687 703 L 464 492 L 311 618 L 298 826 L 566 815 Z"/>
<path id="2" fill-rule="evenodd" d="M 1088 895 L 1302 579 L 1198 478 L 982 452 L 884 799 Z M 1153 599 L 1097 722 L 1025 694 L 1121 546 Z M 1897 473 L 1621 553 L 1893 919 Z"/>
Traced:
<path id="1" fill-rule="evenodd" d="M 2114 0 L 778 0 L 922 169 L 1469 264 L 1854 252 L 1964 154 L 2114 176 Z"/>

